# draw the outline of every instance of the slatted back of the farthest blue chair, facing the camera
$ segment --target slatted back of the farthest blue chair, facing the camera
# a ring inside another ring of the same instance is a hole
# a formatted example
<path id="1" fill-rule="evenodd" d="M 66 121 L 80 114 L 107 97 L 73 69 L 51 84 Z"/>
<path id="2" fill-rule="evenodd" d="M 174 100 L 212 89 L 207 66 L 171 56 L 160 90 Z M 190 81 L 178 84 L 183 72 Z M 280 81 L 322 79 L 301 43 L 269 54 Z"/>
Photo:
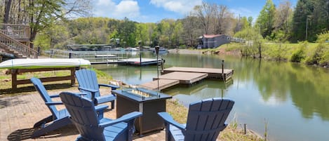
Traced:
<path id="1" fill-rule="evenodd" d="M 98 90 L 98 81 L 96 73 L 90 69 L 79 69 L 75 72 L 76 80 L 78 80 L 79 86 L 83 88 L 91 88 Z M 81 90 L 81 92 L 86 92 Z M 100 92 L 95 93 L 95 97 L 99 97 Z M 91 98 L 91 95 L 86 95 L 87 98 Z"/>

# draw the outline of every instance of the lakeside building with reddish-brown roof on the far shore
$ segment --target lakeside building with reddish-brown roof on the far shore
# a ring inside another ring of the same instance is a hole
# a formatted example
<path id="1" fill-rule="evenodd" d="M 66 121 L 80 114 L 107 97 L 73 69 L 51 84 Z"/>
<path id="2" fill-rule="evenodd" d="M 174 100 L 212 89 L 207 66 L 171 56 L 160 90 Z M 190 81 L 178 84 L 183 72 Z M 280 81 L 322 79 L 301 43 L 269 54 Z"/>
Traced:
<path id="1" fill-rule="evenodd" d="M 224 34 L 203 34 L 197 40 L 197 48 L 217 48 L 222 44 L 230 43 L 231 37 Z"/>

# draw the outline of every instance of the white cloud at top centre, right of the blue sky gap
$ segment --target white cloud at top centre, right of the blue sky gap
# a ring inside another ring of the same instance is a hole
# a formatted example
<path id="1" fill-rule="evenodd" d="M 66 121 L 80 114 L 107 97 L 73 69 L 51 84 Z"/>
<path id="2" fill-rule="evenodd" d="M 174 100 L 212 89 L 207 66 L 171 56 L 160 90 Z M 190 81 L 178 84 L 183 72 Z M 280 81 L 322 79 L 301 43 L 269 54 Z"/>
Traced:
<path id="1" fill-rule="evenodd" d="M 163 7 L 167 11 L 187 14 L 194 6 L 202 4 L 202 0 L 151 0 L 149 2 L 157 7 Z"/>

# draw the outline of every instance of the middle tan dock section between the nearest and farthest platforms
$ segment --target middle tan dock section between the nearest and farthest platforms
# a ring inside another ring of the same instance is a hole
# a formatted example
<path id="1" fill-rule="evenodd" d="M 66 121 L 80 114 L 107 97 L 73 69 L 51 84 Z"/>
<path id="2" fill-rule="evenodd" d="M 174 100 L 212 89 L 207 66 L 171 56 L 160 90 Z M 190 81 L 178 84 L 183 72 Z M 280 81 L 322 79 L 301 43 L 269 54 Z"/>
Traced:
<path id="1" fill-rule="evenodd" d="M 163 74 L 159 76 L 159 79 L 170 79 L 170 80 L 179 80 L 180 83 L 192 84 L 197 81 L 205 79 L 208 74 L 205 73 L 194 73 L 194 72 L 171 72 L 168 74 Z M 157 78 L 153 78 L 156 80 Z"/>

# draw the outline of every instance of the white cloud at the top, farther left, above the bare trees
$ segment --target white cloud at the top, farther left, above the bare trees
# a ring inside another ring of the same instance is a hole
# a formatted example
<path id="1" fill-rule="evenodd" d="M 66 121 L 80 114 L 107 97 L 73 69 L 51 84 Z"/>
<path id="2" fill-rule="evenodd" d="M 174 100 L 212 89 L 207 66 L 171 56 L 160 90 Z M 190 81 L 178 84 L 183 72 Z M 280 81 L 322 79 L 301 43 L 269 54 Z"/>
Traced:
<path id="1" fill-rule="evenodd" d="M 93 13 L 96 17 L 109 18 L 136 18 L 140 16 L 140 6 L 137 1 L 126 0 L 116 4 L 113 0 L 94 0 L 95 9 Z"/>

